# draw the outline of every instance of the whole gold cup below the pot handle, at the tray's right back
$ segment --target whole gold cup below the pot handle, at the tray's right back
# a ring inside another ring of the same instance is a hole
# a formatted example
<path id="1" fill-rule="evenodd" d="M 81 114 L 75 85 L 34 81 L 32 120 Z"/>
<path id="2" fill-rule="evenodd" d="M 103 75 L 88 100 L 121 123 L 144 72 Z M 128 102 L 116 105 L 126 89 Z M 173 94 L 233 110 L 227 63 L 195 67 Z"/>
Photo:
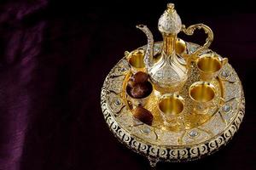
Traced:
<path id="1" fill-rule="evenodd" d="M 228 63 L 227 58 L 220 59 L 215 53 L 201 55 L 196 60 L 201 80 L 211 82 L 213 78 L 218 76 L 218 72 L 226 63 Z"/>

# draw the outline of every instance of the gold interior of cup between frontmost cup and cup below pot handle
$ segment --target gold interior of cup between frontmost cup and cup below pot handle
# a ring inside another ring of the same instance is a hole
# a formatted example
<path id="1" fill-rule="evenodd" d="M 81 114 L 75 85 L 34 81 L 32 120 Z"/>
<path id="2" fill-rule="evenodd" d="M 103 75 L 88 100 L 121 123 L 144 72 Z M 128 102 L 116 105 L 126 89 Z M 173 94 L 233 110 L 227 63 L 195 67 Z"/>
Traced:
<path id="1" fill-rule="evenodd" d="M 197 102 L 211 101 L 215 96 L 214 87 L 209 82 L 199 82 L 189 88 L 189 96 Z"/>

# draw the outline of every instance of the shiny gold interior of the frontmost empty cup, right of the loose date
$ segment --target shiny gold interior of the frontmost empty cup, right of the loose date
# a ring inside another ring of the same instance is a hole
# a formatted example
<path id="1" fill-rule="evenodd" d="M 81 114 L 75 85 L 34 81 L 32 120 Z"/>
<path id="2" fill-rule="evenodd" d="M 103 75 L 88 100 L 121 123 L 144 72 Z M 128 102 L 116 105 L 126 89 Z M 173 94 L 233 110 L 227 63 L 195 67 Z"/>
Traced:
<path id="1" fill-rule="evenodd" d="M 183 99 L 176 96 L 167 96 L 160 99 L 159 109 L 164 114 L 177 116 L 184 109 Z"/>

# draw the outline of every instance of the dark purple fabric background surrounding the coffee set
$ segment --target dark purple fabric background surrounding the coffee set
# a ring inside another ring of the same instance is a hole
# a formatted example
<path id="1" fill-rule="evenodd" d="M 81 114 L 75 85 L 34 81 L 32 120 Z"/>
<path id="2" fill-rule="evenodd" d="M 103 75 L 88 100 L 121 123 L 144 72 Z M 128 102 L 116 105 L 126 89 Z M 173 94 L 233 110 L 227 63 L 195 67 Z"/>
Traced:
<path id="1" fill-rule="evenodd" d="M 173 1 L 172 1 L 173 2 Z M 224 149 L 158 169 L 256 169 L 256 14 L 253 0 L 176 1 L 187 26 L 212 28 L 212 49 L 228 57 L 246 95 L 246 116 Z M 108 71 L 146 43 L 135 28 L 157 21 L 167 1 L 0 2 L 0 170 L 148 169 L 113 137 L 100 92 Z M 183 36 L 183 35 L 181 35 Z M 201 32 L 185 40 L 203 42 Z"/>

